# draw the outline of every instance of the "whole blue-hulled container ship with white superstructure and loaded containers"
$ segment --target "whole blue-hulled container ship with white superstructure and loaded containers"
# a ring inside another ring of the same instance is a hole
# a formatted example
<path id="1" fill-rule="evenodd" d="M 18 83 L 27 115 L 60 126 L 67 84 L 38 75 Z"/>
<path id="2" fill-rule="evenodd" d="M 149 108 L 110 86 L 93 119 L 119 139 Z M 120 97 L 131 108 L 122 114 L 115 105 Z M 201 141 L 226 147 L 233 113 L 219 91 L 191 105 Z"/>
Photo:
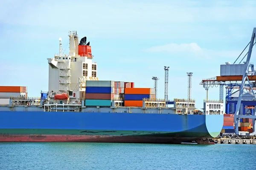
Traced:
<path id="1" fill-rule="evenodd" d="M 48 92 L 29 98 L 27 87 L 0 86 L 1 142 L 212 144 L 220 134 L 223 102 L 204 101 L 198 113 L 192 99 L 166 101 L 154 88 L 101 81 L 86 37 L 70 31 L 68 55 L 59 42 L 48 58 Z"/>

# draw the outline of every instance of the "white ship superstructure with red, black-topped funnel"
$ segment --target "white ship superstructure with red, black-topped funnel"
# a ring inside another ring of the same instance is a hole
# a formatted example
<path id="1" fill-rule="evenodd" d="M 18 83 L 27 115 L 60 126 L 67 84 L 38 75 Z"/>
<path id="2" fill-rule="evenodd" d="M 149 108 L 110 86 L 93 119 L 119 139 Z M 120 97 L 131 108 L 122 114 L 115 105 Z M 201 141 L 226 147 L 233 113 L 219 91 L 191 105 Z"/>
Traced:
<path id="1" fill-rule="evenodd" d="M 85 97 L 85 81 L 98 80 L 97 63 L 92 61 L 90 42 L 86 44 L 84 37 L 79 43 L 76 31 L 69 32 L 69 39 L 69 55 L 63 54 L 60 38 L 59 54 L 48 58 L 50 102 L 58 102 L 54 98 L 56 94 L 66 93 L 69 98 L 61 102 L 80 103 Z"/>

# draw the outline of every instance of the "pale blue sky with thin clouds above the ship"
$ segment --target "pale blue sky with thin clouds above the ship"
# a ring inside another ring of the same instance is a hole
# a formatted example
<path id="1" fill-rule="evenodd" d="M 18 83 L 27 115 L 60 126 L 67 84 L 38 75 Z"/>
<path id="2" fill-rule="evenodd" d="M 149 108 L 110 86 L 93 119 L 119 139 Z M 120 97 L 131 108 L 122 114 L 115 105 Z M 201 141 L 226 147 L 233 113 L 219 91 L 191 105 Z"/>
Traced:
<path id="1" fill-rule="evenodd" d="M 48 91 L 47 58 L 68 54 L 68 31 L 87 37 L 99 80 L 154 87 L 164 98 L 164 66 L 169 66 L 169 99 L 188 97 L 203 107 L 202 79 L 220 75 L 234 62 L 256 27 L 255 0 L 8 0 L 0 2 L 0 86 L 28 86 L 29 96 Z M 255 48 L 255 47 L 254 47 Z M 252 54 L 251 61 L 255 59 Z M 225 94 L 224 94 L 225 98 Z M 219 99 L 219 87 L 209 89 Z"/>

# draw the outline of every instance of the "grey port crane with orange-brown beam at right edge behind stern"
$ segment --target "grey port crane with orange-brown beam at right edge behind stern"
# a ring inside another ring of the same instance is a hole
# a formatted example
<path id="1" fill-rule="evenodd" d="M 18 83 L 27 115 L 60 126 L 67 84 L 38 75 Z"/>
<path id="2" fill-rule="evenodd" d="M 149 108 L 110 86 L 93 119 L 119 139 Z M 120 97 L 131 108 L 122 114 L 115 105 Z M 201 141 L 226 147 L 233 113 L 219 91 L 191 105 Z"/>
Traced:
<path id="1" fill-rule="evenodd" d="M 253 28 L 253 34 L 251 37 L 250 42 L 247 44 L 247 46 L 244 48 L 244 50 L 241 52 L 239 57 L 236 59 L 236 61 L 233 64 L 230 64 L 229 62 L 226 63 L 226 65 L 221 65 L 223 70 L 230 69 L 229 74 L 225 74 L 221 71 L 220 76 L 216 76 L 209 79 L 204 79 L 201 81 L 201 85 L 207 90 L 207 98 L 208 98 L 208 89 L 209 87 L 217 87 L 220 85 L 220 100 L 223 101 L 223 87 L 226 86 L 227 91 L 231 92 L 230 89 L 239 89 L 239 97 L 236 104 L 236 111 L 234 113 L 234 123 L 235 123 L 235 132 L 237 135 L 256 135 L 255 132 L 255 121 L 256 121 L 256 112 L 252 113 L 252 115 L 243 115 L 242 112 L 240 112 L 241 102 L 242 102 L 242 95 L 244 94 L 244 89 L 249 90 L 253 93 L 254 98 L 256 99 L 255 90 L 256 90 L 256 74 L 254 70 L 254 65 L 250 63 L 250 58 L 253 50 L 253 46 L 255 45 L 256 41 L 256 28 Z M 241 59 L 239 63 L 236 63 L 238 59 L 241 57 L 243 52 L 248 48 L 248 52 L 244 55 L 244 57 Z M 246 57 L 246 61 L 241 64 L 241 62 Z M 231 69 L 233 68 L 233 69 Z M 240 72 L 237 72 L 240 70 Z M 246 84 L 247 81 L 247 84 Z M 239 82 L 239 83 L 238 83 Z M 240 83 L 241 82 L 241 83 Z M 228 96 L 227 96 L 228 97 Z M 231 98 L 231 95 L 230 95 Z M 256 102 L 254 101 L 254 107 L 256 106 Z M 252 118 L 253 119 L 253 133 L 239 133 L 239 122 L 240 118 Z"/>

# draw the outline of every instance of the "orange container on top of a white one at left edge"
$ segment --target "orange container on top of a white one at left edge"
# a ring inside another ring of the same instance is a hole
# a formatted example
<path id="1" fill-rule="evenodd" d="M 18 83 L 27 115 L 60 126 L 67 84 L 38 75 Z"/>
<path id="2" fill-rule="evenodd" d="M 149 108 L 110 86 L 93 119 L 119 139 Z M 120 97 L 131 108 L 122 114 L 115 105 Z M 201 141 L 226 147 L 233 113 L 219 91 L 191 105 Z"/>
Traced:
<path id="1" fill-rule="evenodd" d="M 0 86 L 0 98 L 28 97 L 28 87 L 25 86 Z"/>

